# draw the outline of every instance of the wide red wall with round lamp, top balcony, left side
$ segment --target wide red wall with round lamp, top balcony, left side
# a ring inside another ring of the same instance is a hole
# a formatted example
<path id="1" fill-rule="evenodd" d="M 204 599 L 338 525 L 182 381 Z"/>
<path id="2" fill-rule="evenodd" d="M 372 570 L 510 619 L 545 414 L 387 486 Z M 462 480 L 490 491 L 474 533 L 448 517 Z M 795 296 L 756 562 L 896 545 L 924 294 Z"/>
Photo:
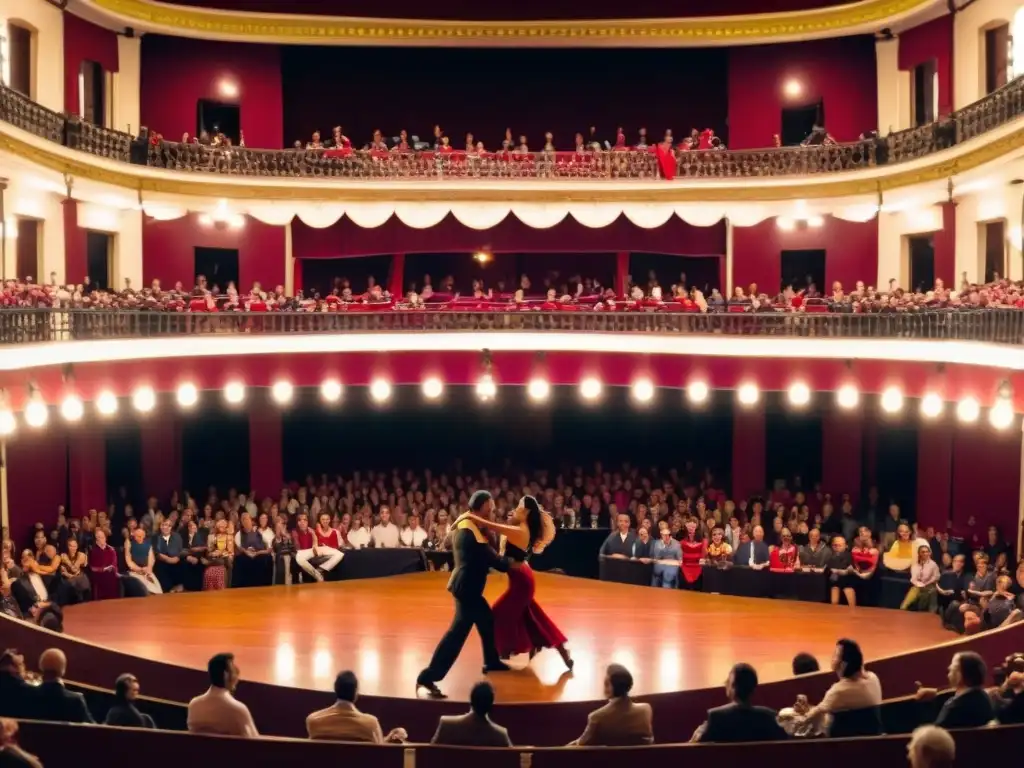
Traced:
<path id="1" fill-rule="evenodd" d="M 318 75 L 317 75 L 318 77 Z M 142 38 L 142 125 L 168 138 L 196 133 L 200 99 L 230 101 L 221 81 L 238 85 L 242 130 L 249 146 L 281 147 L 281 49 L 183 37 Z M 327 81 L 324 81 L 327 87 Z"/>

